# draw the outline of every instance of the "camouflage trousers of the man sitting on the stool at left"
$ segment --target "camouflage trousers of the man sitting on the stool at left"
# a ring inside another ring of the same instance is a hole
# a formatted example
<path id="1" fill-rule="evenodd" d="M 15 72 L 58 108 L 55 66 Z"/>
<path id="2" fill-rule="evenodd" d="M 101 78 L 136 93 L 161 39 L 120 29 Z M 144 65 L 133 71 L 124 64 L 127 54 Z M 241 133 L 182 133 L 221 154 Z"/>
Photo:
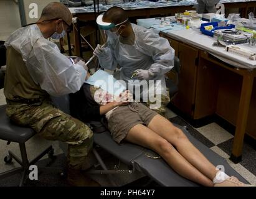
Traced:
<path id="1" fill-rule="evenodd" d="M 48 100 L 36 104 L 8 103 L 6 114 L 14 123 L 31 127 L 47 140 L 67 142 L 69 167 L 81 169 L 93 145 L 93 133 L 88 126 Z"/>

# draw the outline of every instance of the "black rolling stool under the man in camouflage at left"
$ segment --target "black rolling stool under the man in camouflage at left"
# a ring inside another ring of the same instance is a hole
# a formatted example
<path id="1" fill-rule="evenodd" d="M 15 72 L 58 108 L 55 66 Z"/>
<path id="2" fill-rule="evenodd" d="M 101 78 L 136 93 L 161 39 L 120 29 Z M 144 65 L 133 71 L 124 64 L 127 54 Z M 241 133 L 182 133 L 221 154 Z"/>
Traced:
<path id="1" fill-rule="evenodd" d="M 25 142 L 31 139 L 36 132 L 34 132 L 31 128 L 28 127 L 20 127 L 11 123 L 10 119 L 6 116 L 6 105 L 0 106 L 0 139 L 7 141 L 7 144 L 11 142 L 19 143 L 19 149 L 21 151 L 21 160 L 14 155 L 11 151 L 9 151 L 9 155 L 4 158 L 4 162 L 10 164 L 12 159 L 16 160 L 21 167 L 9 170 L 7 172 L 3 172 L 0 174 L 0 179 L 10 177 L 14 174 L 21 173 L 21 180 L 19 186 L 22 187 L 26 181 L 26 175 L 29 174 L 29 166 L 36 164 L 38 160 L 40 160 L 44 155 L 48 154 L 50 159 L 54 159 L 54 149 L 52 146 L 48 147 L 44 150 L 40 155 L 38 155 L 34 160 L 29 162 L 27 159 L 27 151 Z M 41 169 L 56 169 L 53 167 L 40 167 Z M 58 168 L 58 170 L 62 170 Z"/>

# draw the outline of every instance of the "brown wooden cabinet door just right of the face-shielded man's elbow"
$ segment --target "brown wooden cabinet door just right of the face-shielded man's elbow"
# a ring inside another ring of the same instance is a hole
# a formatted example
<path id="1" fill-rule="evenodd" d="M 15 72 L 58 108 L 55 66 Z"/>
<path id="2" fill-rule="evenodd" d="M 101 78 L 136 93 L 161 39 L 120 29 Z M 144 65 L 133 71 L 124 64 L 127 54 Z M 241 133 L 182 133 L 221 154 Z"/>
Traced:
<path id="1" fill-rule="evenodd" d="M 196 93 L 196 78 L 198 65 L 198 50 L 186 44 L 179 44 L 179 60 L 181 61 L 181 73 L 179 74 L 179 92 L 173 99 L 173 104 L 194 117 L 194 104 Z"/>

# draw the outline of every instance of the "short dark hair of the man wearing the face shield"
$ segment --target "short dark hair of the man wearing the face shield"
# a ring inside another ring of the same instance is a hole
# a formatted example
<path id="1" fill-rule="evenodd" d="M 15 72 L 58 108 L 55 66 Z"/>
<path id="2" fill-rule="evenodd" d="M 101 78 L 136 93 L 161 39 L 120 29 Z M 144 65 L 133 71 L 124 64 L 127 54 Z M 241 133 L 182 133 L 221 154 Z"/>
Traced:
<path id="1" fill-rule="evenodd" d="M 107 12 L 105 12 L 102 19 L 103 21 L 109 20 L 114 24 L 120 24 L 121 22 L 124 22 L 126 21 L 126 19 L 128 19 L 128 15 L 123 8 L 118 6 L 113 6 L 113 7 L 110 7 L 110 9 L 108 9 Z M 129 23 L 129 21 L 127 21 L 126 23 Z"/>

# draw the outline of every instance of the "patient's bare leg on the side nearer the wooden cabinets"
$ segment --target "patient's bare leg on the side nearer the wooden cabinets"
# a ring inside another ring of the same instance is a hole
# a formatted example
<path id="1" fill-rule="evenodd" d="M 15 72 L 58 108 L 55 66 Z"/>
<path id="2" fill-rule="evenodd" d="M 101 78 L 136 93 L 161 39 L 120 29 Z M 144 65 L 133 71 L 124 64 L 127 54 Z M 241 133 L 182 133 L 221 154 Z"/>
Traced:
<path id="1" fill-rule="evenodd" d="M 178 152 L 183 155 L 190 164 L 202 172 L 202 174 L 206 175 L 211 180 L 216 177 L 216 167 L 211 164 L 211 162 L 209 162 L 196 147 L 194 147 L 183 131 L 171 124 L 168 119 L 157 115 L 152 119 L 151 123 L 149 123 L 148 127 L 173 144 Z"/>

